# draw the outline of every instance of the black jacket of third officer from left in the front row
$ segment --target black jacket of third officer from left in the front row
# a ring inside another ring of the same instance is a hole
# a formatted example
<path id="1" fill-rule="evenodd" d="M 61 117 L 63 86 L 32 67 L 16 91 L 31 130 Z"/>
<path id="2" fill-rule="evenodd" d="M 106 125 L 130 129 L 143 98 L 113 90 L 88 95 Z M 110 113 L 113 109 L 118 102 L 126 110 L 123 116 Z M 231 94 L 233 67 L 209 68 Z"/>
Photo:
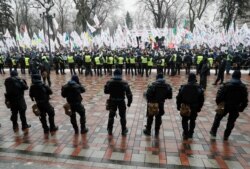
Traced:
<path id="1" fill-rule="evenodd" d="M 85 88 L 81 84 L 69 81 L 62 87 L 61 95 L 67 99 L 69 104 L 79 104 L 82 101 L 81 93 L 84 92 Z"/>

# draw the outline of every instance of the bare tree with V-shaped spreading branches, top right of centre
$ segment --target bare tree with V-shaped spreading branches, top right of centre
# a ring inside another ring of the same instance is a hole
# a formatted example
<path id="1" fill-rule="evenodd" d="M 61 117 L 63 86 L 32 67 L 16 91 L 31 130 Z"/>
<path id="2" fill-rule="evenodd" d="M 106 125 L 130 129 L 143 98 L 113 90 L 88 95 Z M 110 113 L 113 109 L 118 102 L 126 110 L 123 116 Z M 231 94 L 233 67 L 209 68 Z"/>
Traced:
<path id="1" fill-rule="evenodd" d="M 170 9 L 176 3 L 173 0 L 140 0 L 145 10 L 152 13 L 157 28 L 163 28 L 166 24 Z"/>

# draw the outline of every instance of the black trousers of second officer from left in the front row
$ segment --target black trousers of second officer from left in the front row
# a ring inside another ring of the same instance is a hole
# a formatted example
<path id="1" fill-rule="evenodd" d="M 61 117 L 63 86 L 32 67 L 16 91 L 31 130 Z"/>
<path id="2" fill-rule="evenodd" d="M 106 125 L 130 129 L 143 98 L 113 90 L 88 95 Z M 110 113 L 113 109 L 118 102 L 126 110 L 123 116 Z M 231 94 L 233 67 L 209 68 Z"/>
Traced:
<path id="1" fill-rule="evenodd" d="M 45 132 L 49 131 L 49 129 L 53 130 L 56 126 L 55 126 L 55 111 L 54 108 L 51 106 L 51 104 L 49 102 L 41 102 L 41 103 L 37 103 L 37 107 L 41 112 L 40 115 L 40 121 L 42 123 L 42 127 L 43 130 Z M 49 125 L 50 127 L 48 127 L 47 125 L 47 117 L 49 116 Z"/>

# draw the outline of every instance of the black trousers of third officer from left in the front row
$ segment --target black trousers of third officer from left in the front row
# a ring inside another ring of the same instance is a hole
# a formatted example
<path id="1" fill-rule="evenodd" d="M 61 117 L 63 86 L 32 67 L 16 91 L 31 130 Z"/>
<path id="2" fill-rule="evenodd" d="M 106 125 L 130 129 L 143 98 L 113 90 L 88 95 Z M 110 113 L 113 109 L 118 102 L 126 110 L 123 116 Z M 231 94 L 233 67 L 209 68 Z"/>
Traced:
<path id="1" fill-rule="evenodd" d="M 82 103 L 70 103 L 72 115 L 70 116 L 70 122 L 75 130 L 75 132 L 79 131 L 77 120 L 76 120 L 76 112 L 80 116 L 80 124 L 81 124 L 81 130 L 86 129 L 86 116 L 85 116 L 85 108 L 82 105 Z"/>

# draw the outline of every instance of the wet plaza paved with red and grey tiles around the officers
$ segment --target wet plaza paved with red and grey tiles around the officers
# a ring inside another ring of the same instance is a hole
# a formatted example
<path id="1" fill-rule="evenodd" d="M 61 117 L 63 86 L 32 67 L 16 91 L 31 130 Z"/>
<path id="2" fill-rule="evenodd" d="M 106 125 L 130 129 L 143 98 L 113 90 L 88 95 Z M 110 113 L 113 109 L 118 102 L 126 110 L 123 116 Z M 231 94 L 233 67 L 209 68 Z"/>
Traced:
<path id="1" fill-rule="evenodd" d="M 26 79 L 30 86 L 29 75 L 21 75 L 20 71 L 19 75 Z M 53 135 L 44 135 L 39 118 L 32 113 L 33 102 L 26 91 L 26 114 L 31 128 L 28 134 L 21 130 L 14 133 L 10 110 L 4 104 L 3 83 L 8 76 L 9 73 L 0 75 L 0 168 L 250 169 L 250 103 L 247 109 L 240 113 L 229 141 L 223 141 L 227 118 L 221 122 L 217 138 L 210 137 L 209 131 L 216 108 L 215 96 L 219 88 L 219 85 L 212 85 L 216 78 L 214 73 L 208 77 L 205 103 L 196 121 L 194 138 L 186 141 L 182 140 L 181 117 L 176 109 L 178 89 L 181 84 L 187 82 L 184 72 L 181 72 L 180 76 L 165 76 L 173 88 L 173 99 L 165 102 L 165 115 L 158 138 L 154 137 L 153 132 L 150 137 L 142 132 L 146 124 L 146 100 L 143 98 L 143 92 L 148 83 L 155 80 L 155 72 L 149 78 L 123 75 L 133 93 L 133 103 L 127 109 L 129 133 L 126 137 L 121 135 L 119 116 L 115 118 L 113 136 L 107 134 L 108 112 L 105 110 L 105 102 L 108 95 L 104 94 L 103 88 L 110 76 L 106 75 L 79 76 L 86 87 L 86 93 L 82 96 L 89 132 L 86 135 L 74 134 L 70 119 L 63 110 L 66 100 L 61 97 L 61 86 L 71 77 L 69 72 L 66 75 L 51 73 L 51 88 L 54 92 L 51 103 L 55 108 L 55 121 L 59 130 Z M 230 78 L 231 75 L 225 75 L 225 81 Z M 250 91 L 250 76 L 247 72 L 242 75 L 242 81 Z"/>

